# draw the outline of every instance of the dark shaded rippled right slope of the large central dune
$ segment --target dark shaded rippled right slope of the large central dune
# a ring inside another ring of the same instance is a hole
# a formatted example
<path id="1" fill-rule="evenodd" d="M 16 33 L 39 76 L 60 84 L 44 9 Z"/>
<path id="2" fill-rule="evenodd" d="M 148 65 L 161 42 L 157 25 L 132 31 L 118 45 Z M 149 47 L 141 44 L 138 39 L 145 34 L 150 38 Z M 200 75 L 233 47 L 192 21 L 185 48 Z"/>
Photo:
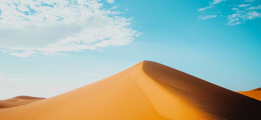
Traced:
<path id="1" fill-rule="evenodd" d="M 183 111 L 195 109 L 195 119 L 210 116 L 213 119 L 261 119 L 261 102 L 258 100 L 159 63 L 144 62 L 143 69 L 173 94 L 187 100 L 189 104 L 180 106 Z"/>

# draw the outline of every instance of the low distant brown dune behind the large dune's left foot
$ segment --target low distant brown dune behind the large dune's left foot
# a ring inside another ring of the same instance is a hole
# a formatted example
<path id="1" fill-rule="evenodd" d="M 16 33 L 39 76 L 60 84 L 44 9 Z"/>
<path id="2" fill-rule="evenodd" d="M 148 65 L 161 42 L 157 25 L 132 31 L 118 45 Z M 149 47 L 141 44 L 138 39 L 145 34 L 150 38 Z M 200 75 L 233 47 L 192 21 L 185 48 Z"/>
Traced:
<path id="1" fill-rule="evenodd" d="M 42 97 L 33 96 L 16 96 L 13 98 L 0 100 L 0 109 L 20 106 L 28 103 L 32 103 L 38 100 L 44 99 Z"/>

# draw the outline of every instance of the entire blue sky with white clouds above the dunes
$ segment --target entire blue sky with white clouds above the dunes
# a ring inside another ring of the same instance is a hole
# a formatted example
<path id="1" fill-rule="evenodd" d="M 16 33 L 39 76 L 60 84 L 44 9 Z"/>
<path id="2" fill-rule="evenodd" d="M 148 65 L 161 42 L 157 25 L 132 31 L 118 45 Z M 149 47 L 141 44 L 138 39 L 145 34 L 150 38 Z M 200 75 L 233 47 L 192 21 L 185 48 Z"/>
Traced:
<path id="1" fill-rule="evenodd" d="M 261 86 L 260 0 L 1 0 L 0 99 L 50 97 L 156 61 Z"/>

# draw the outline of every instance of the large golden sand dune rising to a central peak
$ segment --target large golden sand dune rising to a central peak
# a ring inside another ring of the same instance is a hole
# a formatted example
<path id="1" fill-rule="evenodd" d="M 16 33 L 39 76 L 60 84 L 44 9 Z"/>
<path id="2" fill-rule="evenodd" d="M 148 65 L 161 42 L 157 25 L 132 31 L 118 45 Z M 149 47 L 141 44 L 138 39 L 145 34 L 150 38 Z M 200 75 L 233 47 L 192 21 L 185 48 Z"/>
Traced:
<path id="1" fill-rule="evenodd" d="M 261 101 L 142 61 L 94 83 L 0 109 L 0 119 L 261 119 Z"/>

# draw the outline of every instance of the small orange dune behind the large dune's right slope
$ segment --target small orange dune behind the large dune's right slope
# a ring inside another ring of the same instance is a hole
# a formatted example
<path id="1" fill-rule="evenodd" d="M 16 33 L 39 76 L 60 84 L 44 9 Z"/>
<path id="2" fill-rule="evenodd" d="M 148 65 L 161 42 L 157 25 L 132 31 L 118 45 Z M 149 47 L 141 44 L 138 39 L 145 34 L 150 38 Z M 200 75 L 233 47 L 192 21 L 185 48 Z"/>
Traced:
<path id="1" fill-rule="evenodd" d="M 237 91 L 237 92 L 261 101 L 261 87 L 249 91 Z"/>

